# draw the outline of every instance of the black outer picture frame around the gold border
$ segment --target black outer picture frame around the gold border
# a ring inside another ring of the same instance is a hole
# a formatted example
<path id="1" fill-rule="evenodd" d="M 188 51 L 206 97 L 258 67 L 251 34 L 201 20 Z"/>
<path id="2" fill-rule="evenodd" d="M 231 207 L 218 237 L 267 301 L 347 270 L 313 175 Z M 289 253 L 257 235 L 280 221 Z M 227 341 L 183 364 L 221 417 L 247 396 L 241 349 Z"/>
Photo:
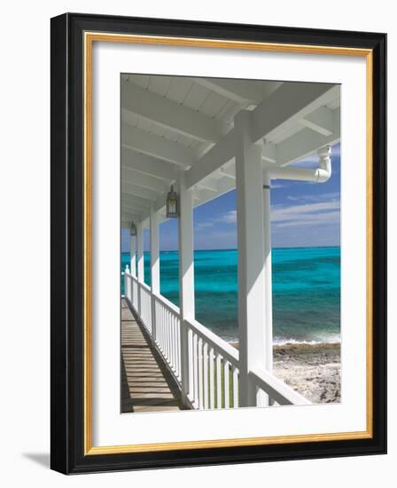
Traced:
<path id="1" fill-rule="evenodd" d="M 365 439 L 146 453 L 84 453 L 83 35 L 86 31 L 293 43 L 373 53 L 373 425 Z M 386 452 L 386 35 L 66 13 L 51 19 L 51 468 L 61 473 Z"/>

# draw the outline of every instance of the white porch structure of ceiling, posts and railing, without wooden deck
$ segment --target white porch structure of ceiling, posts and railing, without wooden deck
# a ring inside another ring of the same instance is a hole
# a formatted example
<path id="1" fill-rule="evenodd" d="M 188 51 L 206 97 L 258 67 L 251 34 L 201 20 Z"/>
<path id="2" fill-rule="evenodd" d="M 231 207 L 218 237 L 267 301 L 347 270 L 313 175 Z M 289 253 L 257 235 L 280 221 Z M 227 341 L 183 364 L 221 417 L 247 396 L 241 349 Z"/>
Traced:
<path id="1" fill-rule="evenodd" d="M 270 188 L 274 179 L 331 177 L 339 105 L 339 86 L 325 83 L 123 75 L 121 224 L 136 231 L 124 298 L 184 408 L 309 403 L 272 372 Z M 315 168 L 293 166 L 313 155 Z M 159 226 L 171 185 L 179 207 L 180 308 L 160 294 Z M 192 210 L 232 189 L 238 350 L 199 323 L 194 301 Z M 150 229 L 151 287 L 144 283 L 144 228 Z"/>

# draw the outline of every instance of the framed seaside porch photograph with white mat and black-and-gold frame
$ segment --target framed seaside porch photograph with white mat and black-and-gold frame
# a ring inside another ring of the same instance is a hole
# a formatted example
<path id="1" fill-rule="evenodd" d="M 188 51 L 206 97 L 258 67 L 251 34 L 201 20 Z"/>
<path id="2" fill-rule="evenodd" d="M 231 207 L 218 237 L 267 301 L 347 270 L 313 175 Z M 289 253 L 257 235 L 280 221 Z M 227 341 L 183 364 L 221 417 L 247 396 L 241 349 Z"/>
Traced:
<path id="1" fill-rule="evenodd" d="M 51 20 L 51 468 L 385 453 L 385 49 Z"/>

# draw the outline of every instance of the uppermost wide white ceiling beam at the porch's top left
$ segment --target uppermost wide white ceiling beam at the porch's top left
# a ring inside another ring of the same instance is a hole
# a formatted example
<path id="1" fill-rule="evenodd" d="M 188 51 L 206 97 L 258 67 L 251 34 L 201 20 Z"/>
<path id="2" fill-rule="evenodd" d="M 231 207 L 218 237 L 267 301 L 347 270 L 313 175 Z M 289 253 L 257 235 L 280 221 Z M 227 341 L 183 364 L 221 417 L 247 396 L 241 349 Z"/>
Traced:
<path id="1" fill-rule="evenodd" d="M 121 100 L 122 110 L 199 141 L 216 142 L 227 130 L 223 122 L 133 83 L 121 83 Z"/>

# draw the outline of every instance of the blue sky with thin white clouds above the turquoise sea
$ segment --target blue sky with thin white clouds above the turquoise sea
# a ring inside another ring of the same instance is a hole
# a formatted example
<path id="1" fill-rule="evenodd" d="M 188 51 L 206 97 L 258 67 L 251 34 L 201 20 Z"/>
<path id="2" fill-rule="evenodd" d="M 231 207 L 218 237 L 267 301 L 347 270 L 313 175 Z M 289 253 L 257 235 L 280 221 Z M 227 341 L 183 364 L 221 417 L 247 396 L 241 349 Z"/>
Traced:
<path id="1" fill-rule="evenodd" d="M 315 168 L 316 155 L 297 165 Z M 273 248 L 339 246 L 340 145 L 332 147 L 332 175 L 321 184 L 290 180 L 271 182 L 271 239 Z M 236 191 L 194 209 L 195 249 L 237 248 Z M 178 248 L 177 219 L 160 224 L 160 249 Z M 129 250 L 128 232 L 122 232 L 122 251 Z M 149 232 L 144 232 L 149 250 Z"/>

